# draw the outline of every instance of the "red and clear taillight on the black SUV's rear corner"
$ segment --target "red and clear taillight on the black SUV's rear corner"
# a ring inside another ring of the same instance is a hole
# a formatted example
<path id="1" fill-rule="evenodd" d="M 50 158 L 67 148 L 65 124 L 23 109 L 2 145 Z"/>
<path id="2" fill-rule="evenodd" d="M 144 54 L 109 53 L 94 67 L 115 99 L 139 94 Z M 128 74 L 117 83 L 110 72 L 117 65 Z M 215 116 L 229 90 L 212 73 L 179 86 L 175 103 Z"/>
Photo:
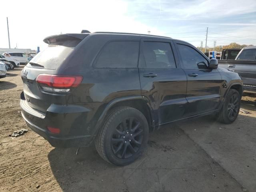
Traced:
<path id="1" fill-rule="evenodd" d="M 40 84 L 42 89 L 53 92 L 69 92 L 70 88 L 77 87 L 82 80 L 82 76 L 51 74 L 40 74 L 36 78 L 36 82 Z"/>

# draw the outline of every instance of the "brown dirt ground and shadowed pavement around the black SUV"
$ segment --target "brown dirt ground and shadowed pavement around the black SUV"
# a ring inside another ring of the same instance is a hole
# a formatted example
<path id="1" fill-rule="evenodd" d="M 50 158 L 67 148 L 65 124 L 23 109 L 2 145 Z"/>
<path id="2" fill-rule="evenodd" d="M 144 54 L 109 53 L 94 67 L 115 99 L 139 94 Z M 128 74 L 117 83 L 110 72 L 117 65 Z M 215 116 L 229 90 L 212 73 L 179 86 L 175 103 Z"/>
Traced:
<path id="1" fill-rule="evenodd" d="M 163 126 L 136 162 L 116 167 L 93 147 L 59 149 L 29 130 L 20 112 L 18 68 L 0 79 L 0 191 L 240 192 L 256 191 L 256 95 L 242 97 L 238 119 L 210 118 Z"/>

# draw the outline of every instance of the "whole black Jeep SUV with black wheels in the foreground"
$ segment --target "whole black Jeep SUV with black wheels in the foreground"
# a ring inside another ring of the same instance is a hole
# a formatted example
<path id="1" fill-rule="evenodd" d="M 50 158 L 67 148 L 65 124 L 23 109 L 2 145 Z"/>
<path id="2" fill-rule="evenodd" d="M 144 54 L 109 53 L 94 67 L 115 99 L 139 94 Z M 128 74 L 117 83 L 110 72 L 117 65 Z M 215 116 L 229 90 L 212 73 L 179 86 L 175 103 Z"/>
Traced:
<path id="1" fill-rule="evenodd" d="M 28 126 L 55 147 L 88 146 L 133 162 L 148 132 L 177 120 L 238 116 L 242 80 L 191 44 L 144 34 L 60 34 L 22 70 Z"/>

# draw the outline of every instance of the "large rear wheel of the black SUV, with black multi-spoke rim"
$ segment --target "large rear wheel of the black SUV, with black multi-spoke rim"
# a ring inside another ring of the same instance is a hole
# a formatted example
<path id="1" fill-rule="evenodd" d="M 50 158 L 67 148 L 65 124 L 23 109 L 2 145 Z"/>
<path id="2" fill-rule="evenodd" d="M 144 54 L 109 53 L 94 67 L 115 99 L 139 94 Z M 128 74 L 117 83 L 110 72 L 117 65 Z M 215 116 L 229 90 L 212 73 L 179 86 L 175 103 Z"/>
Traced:
<path id="1" fill-rule="evenodd" d="M 148 122 L 142 112 L 118 107 L 107 116 L 96 136 L 95 146 L 104 160 L 123 166 L 134 162 L 147 142 Z"/>

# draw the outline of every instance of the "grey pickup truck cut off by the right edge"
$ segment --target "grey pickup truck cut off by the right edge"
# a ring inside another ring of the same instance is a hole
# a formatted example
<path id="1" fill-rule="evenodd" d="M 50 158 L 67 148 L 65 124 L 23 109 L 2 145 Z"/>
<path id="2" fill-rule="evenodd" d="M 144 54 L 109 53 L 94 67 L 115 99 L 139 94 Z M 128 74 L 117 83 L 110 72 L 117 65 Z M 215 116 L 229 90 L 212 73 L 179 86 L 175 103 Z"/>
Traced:
<path id="1" fill-rule="evenodd" d="M 240 74 L 244 92 L 256 93 L 256 46 L 244 47 L 235 60 L 220 60 L 219 65 Z"/>

